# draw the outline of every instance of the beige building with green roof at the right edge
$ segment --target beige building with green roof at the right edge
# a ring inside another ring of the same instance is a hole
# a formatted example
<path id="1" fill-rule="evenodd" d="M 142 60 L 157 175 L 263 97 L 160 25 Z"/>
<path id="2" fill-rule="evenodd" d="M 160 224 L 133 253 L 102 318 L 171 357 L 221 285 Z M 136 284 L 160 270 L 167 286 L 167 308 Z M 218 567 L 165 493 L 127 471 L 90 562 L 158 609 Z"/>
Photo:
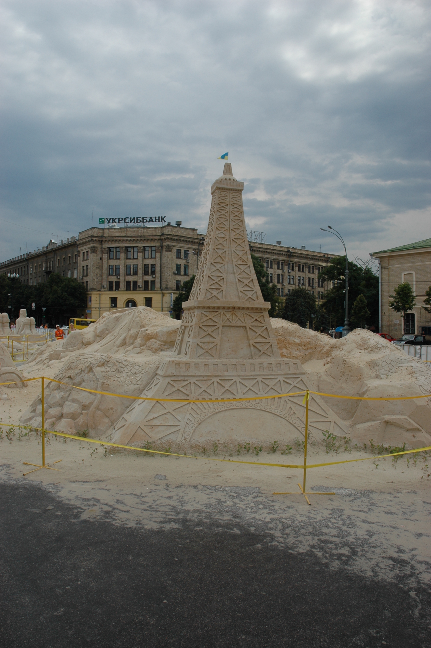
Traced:
<path id="1" fill-rule="evenodd" d="M 431 334 L 431 314 L 423 309 L 425 292 L 431 286 L 431 238 L 371 253 L 379 260 L 379 329 L 399 338 L 406 333 Z M 416 296 L 416 305 L 406 317 L 404 331 L 401 313 L 389 307 L 390 295 L 399 284 L 408 281 Z"/>

